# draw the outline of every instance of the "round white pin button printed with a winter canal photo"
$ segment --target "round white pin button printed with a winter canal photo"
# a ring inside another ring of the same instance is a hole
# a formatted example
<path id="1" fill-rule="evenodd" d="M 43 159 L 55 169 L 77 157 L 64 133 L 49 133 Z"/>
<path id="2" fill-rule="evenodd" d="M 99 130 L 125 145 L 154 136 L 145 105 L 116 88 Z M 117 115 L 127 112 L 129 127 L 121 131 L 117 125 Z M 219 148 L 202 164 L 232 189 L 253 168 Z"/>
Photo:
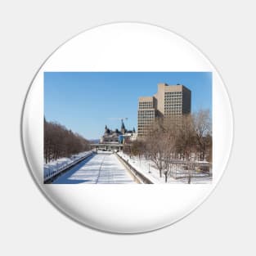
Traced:
<path id="1" fill-rule="evenodd" d="M 34 181 L 57 209 L 136 233 L 177 222 L 209 196 L 233 120 L 222 79 L 194 45 L 154 25 L 115 23 L 47 58 L 21 132 Z"/>

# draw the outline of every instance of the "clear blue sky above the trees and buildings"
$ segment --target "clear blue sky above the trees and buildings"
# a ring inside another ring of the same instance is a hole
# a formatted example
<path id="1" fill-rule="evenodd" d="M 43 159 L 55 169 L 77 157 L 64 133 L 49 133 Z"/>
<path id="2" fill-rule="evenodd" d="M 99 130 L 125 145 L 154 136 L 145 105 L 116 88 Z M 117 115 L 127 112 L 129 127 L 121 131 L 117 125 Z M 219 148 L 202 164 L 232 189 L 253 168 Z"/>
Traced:
<path id="1" fill-rule="evenodd" d="M 157 83 L 183 84 L 191 89 L 191 110 L 212 111 L 212 73 L 210 72 L 45 72 L 44 115 L 97 139 L 105 125 L 137 130 L 137 101 L 153 96 Z"/>

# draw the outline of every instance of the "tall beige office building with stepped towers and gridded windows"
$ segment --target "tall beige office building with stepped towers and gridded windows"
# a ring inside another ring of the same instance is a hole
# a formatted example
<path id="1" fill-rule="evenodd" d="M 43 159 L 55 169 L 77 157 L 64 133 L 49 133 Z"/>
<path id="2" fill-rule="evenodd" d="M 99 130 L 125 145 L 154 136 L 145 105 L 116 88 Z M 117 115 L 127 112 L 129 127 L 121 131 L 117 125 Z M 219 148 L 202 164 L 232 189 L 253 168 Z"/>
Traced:
<path id="1" fill-rule="evenodd" d="M 139 97 L 137 113 L 138 137 L 148 132 L 157 117 L 178 119 L 191 113 L 191 90 L 184 85 L 159 83 L 152 97 Z"/>

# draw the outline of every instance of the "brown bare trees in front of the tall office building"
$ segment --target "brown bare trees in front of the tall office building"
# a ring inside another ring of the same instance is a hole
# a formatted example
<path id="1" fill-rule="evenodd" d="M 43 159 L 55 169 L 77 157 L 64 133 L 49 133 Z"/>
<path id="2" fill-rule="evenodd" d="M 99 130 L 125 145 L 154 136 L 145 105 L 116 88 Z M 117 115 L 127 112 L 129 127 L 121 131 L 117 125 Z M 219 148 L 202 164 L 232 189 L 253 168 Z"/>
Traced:
<path id="1" fill-rule="evenodd" d="M 151 159 L 159 176 L 173 159 L 212 162 L 212 124 L 209 110 L 193 115 L 155 119 L 146 137 L 124 147 L 128 154 Z M 167 178 L 167 177 L 166 177 Z"/>

